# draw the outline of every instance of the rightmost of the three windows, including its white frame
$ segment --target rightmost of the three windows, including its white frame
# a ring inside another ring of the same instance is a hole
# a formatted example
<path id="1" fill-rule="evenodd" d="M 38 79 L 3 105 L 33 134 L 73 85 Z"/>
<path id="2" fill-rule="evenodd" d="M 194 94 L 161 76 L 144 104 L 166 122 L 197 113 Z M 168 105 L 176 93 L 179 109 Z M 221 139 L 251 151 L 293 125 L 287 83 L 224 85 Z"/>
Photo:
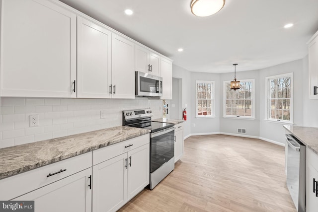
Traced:
<path id="1" fill-rule="evenodd" d="M 293 73 L 266 77 L 267 119 L 292 123 Z"/>

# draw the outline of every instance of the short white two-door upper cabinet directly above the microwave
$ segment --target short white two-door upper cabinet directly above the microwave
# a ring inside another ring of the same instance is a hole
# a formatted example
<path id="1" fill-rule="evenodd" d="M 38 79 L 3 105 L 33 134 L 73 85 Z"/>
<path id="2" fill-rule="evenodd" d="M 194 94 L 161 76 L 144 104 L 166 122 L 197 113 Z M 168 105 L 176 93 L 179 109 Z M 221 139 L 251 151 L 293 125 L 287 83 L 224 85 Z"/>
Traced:
<path id="1" fill-rule="evenodd" d="M 136 45 L 135 71 L 142 71 L 153 75 L 160 75 L 160 56 L 148 49 Z"/>

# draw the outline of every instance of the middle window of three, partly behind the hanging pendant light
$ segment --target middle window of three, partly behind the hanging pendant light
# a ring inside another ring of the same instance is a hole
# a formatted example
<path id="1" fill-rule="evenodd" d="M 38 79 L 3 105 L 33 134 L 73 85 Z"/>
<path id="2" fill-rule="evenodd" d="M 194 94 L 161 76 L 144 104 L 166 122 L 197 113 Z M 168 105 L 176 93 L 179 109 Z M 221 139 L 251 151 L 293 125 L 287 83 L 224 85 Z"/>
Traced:
<path id="1" fill-rule="evenodd" d="M 224 117 L 254 118 L 254 79 L 240 80 L 238 90 L 231 90 L 230 85 L 224 81 Z"/>

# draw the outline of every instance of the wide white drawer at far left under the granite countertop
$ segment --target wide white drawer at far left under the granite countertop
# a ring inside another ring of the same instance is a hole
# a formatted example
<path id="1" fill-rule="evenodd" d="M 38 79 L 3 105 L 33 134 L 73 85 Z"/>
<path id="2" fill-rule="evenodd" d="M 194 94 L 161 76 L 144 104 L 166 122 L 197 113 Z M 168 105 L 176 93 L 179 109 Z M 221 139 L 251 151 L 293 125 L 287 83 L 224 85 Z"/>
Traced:
<path id="1" fill-rule="evenodd" d="M 81 170 L 91 167 L 92 153 L 87 152 L 0 180 L 0 200 L 11 200 Z M 66 170 L 65 170 L 66 169 Z M 60 173 L 60 170 L 65 170 Z M 49 174 L 54 174 L 48 177 Z"/>

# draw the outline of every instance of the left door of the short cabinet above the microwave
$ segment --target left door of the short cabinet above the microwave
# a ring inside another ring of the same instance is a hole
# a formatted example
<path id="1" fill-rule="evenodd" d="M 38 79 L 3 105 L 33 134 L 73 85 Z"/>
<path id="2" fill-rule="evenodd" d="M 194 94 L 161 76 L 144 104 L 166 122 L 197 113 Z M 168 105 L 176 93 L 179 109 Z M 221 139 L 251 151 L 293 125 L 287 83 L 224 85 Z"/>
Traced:
<path id="1" fill-rule="evenodd" d="M 135 71 L 149 72 L 149 50 L 135 46 Z"/>

